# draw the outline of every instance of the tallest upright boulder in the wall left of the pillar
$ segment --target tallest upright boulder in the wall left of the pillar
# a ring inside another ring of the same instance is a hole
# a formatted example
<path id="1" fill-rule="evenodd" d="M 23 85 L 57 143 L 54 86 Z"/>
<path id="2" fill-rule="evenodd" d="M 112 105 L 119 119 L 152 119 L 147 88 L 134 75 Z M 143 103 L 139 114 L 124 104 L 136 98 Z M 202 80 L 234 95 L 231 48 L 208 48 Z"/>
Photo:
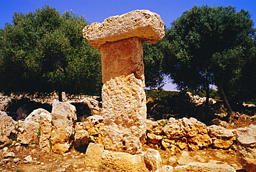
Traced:
<path id="1" fill-rule="evenodd" d="M 53 116 L 52 150 L 55 153 L 66 153 L 75 135 L 75 122 L 77 120 L 75 106 L 67 102 L 54 101 L 51 115 Z"/>

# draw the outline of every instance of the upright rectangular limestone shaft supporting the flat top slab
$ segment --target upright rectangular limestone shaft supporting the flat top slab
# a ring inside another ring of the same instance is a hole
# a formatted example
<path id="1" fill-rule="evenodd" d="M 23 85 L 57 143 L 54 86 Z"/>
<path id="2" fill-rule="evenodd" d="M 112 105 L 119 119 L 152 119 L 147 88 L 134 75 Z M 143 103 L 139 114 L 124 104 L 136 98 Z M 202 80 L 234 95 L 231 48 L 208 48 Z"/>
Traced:
<path id="1" fill-rule="evenodd" d="M 143 49 L 137 37 L 109 44 L 101 49 L 104 146 L 140 153 L 147 116 Z"/>

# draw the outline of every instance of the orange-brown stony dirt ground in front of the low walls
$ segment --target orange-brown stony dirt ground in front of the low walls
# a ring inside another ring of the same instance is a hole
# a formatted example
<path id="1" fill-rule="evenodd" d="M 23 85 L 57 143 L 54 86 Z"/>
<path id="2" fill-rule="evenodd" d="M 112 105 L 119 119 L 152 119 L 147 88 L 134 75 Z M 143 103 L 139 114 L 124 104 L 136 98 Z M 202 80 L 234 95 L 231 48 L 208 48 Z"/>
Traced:
<path id="1" fill-rule="evenodd" d="M 148 147 L 144 147 L 144 151 Z M 13 153 L 7 158 L 8 153 Z M 242 170 L 241 165 L 236 160 L 235 150 L 222 150 L 222 149 L 203 149 L 199 151 L 183 151 L 172 152 L 170 150 L 163 151 L 159 149 L 163 164 L 166 165 L 182 165 L 188 162 L 212 162 L 216 164 L 229 164 L 237 171 Z M 106 166 L 99 166 L 98 169 L 93 169 L 90 164 L 86 164 L 86 156 L 84 153 L 72 149 L 68 153 L 59 155 L 53 152 L 42 151 L 36 144 L 29 146 L 10 146 L 8 149 L 0 150 L 0 159 L 8 160 L 2 163 L 0 171 L 115 171 L 108 169 Z"/>

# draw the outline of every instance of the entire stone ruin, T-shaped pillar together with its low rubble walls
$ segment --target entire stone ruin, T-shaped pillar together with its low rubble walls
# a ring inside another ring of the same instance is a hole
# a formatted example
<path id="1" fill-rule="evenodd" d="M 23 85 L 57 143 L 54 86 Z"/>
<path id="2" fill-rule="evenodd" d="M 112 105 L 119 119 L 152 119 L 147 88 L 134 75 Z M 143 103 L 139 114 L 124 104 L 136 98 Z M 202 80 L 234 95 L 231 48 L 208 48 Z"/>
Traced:
<path id="1" fill-rule="evenodd" d="M 248 171 L 256 170 L 254 125 L 228 130 L 206 126 L 192 117 L 146 120 L 141 45 L 163 38 L 164 23 L 159 15 L 149 10 L 135 10 L 93 23 L 83 32 L 91 46 L 100 49 L 102 54 L 102 112 L 77 122 L 75 106 L 57 101 L 53 101 L 51 113 L 39 108 L 24 121 L 15 122 L 0 112 L 0 149 L 7 145 L 38 144 L 44 151 L 64 154 L 72 147 L 85 151 L 88 146 L 84 161 L 95 168 L 104 164 L 116 171 L 235 172 L 228 164 L 193 162 L 188 158 L 188 151 L 207 147 L 235 149 L 232 146 L 237 142 L 241 165 Z M 143 144 L 153 149 L 143 151 Z M 177 160 L 179 165 L 163 166 L 157 149 L 183 151 Z M 5 157 L 13 156 L 11 154 Z M 30 156 L 24 159 L 32 161 Z M 0 165 L 6 162 L 1 160 Z"/>

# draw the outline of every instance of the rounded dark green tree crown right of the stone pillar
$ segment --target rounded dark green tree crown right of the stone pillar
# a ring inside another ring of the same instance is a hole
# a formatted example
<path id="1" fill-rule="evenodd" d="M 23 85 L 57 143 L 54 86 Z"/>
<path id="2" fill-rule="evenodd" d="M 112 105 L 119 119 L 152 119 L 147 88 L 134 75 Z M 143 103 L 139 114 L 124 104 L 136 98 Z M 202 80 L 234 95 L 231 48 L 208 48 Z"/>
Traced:
<path id="1" fill-rule="evenodd" d="M 255 29 L 250 13 L 232 6 L 194 6 L 172 25 L 165 37 L 170 44 L 163 48 L 164 72 L 180 90 L 203 88 L 208 93 L 214 84 L 225 101 L 252 56 Z"/>

